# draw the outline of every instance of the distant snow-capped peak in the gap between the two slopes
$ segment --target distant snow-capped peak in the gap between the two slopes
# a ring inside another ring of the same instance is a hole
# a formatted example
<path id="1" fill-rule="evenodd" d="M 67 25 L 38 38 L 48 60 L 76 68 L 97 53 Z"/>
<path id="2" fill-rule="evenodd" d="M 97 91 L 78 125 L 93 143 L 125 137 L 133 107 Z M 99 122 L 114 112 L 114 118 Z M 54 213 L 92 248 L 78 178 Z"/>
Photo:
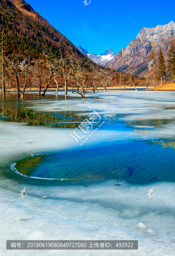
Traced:
<path id="1" fill-rule="evenodd" d="M 81 45 L 76 45 L 76 47 L 79 49 L 80 52 L 84 53 L 93 62 L 101 66 L 104 66 L 105 64 L 107 64 L 115 56 L 115 53 L 111 48 L 107 49 L 104 53 L 101 53 L 99 55 L 99 54 L 88 52 L 87 50 L 82 48 Z"/>

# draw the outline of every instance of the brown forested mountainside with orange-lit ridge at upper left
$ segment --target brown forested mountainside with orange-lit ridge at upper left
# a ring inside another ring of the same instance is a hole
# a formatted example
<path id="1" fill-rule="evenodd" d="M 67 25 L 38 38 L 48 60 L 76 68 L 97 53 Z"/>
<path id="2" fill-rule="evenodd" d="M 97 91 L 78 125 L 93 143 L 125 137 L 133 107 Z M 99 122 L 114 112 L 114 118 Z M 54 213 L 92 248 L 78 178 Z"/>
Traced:
<path id="1" fill-rule="evenodd" d="M 36 56 L 43 50 L 52 51 L 57 56 L 73 52 L 87 58 L 23 0 L 0 1 L 0 34 L 4 34 L 10 50 L 17 49 Z"/>

